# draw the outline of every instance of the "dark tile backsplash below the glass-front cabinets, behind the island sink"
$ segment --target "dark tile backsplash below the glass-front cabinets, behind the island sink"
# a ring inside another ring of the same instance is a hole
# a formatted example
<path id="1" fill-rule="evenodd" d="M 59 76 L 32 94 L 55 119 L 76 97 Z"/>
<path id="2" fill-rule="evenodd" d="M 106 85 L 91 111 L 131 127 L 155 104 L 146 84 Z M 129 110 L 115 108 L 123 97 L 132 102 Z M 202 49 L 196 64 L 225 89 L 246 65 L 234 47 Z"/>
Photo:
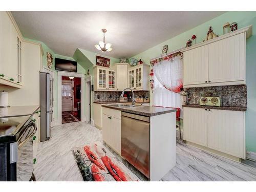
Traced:
<path id="1" fill-rule="evenodd" d="M 119 97 L 122 92 L 120 91 L 95 91 L 94 101 L 119 101 Z M 132 92 L 125 92 L 128 96 L 128 100 L 132 101 Z M 136 97 L 148 97 L 150 98 L 150 91 L 134 91 Z M 130 98 L 131 97 L 131 98 Z"/>

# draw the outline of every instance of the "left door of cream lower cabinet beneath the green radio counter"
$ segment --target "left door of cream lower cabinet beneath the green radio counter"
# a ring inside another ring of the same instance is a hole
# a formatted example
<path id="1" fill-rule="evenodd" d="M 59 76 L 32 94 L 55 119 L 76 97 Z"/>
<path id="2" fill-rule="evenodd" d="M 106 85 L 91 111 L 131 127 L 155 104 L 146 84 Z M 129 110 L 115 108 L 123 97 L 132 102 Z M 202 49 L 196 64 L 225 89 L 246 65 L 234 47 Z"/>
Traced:
<path id="1" fill-rule="evenodd" d="M 208 111 L 199 108 L 184 108 L 184 140 L 202 146 L 208 145 Z"/>

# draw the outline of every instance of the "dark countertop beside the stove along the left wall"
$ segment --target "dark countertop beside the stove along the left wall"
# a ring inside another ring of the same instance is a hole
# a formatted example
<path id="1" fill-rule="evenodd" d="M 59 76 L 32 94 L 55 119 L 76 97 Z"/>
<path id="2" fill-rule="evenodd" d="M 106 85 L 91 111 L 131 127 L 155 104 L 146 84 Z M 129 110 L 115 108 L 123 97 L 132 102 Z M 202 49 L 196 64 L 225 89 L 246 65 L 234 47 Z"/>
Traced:
<path id="1" fill-rule="evenodd" d="M 39 105 L 10 106 L 9 108 L 0 108 L 0 118 L 32 115 L 38 109 Z"/>

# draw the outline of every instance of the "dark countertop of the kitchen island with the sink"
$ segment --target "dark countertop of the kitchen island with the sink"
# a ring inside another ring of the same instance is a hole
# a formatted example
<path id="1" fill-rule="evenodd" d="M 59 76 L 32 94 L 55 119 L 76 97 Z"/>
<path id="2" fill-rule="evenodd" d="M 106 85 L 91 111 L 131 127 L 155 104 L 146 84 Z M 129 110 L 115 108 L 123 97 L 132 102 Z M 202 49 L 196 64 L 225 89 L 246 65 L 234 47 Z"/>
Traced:
<path id="1" fill-rule="evenodd" d="M 119 110 L 122 112 L 133 113 L 137 115 L 144 115 L 148 117 L 161 115 L 165 113 L 172 113 L 177 111 L 174 108 L 160 108 L 157 106 L 134 106 L 131 108 L 120 108 L 113 105 L 102 105 L 102 106 L 104 108 L 110 108 L 110 109 Z"/>

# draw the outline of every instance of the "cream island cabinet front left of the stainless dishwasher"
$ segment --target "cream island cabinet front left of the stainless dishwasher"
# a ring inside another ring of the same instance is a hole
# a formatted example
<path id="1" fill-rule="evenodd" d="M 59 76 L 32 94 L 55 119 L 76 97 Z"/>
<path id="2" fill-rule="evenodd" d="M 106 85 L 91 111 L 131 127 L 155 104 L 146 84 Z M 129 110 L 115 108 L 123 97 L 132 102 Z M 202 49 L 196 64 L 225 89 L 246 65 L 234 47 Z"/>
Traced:
<path id="1" fill-rule="evenodd" d="M 121 154 L 121 111 L 103 108 L 102 138 L 115 152 Z M 119 114 L 120 113 L 120 114 Z"/>

